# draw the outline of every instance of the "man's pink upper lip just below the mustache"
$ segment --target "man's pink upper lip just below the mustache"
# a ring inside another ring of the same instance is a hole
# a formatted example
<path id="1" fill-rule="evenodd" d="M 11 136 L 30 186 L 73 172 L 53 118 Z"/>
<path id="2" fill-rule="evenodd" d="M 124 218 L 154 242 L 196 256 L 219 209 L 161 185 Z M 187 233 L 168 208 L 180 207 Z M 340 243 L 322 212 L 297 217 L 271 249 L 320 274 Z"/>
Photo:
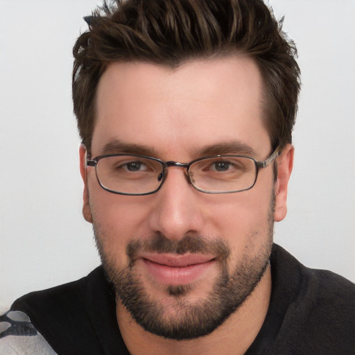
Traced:
<path id="1" fill-rule="evenodd" d="M 214 259 L 211 255 L 205 254 L 141 254 L 141 258 L 159 263 L 161 265 L 171 266 L 175 268 L 182 268 L 184 266 L 196 265 L 198 263 L 206 263 Z"/>

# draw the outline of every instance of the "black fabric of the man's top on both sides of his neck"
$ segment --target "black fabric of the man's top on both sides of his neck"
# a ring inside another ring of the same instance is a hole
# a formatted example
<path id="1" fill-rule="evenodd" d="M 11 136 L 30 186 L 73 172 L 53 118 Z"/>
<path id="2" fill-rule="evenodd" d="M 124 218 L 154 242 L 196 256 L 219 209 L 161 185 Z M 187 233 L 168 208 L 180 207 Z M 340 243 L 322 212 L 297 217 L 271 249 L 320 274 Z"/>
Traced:
<path id="1" fill-rule="evenodd" d="M 354 355 L 355 285 L 306 268 L 278 245 L 270 263 L 270 306 L 245 354 Z M 129 354 L 102 266 L 76 282 L 25 295 L 11 310 L 26 313 L 57 354 Z"/>

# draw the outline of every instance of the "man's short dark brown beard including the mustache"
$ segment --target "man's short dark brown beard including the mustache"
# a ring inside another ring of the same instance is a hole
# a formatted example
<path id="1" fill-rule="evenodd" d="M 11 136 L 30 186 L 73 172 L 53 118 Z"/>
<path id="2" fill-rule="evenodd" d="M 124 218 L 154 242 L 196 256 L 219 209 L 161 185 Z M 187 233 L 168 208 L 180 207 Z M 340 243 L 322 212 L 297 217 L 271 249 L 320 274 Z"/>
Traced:
<path id="1" fill-rule="evenodd" d="M 227 318 L 241 307 L 248 296 L 259 284 L 269 265 L 273 236 L 273 214 L 275 195 L 270 202 L 268 221 L 263 236 L 260 231 L 250 233 L 250 248 L 245 248 L 240 261 L 232 270 L 228 270 L 231 250 L 223 239 L 206 239 L 197 234 L 188 234 L 179 241 L 171 241 L 162 234 L 154 234 L 144 241 L 134 239 L 126 247 L 128 266 L 118 268 L 116 257 L 105 248 L 105 233 L 98 223 L 93 223 L 96 245 L 106 275 L 114 286 L 116 302 L 121 302 L 132 318 L 146 331 L 157 336 L 173 340 L 191 340 L 206 336 L 219 327 Z M 266 238 L 265 238 L 266 235 Z M 257 238 L 263 238 L 254 252 L 252 244 Z M 169 305 L 154 300 L 139 279 L 135 269 L 137 255 L 140 252 L 168 254 L 213 254 L 216 255 L 218 277 L 206 297 L 196 302 L 189 301 L 193 285 L 165 286 L 164 292 Z M 172 301 L 172 302 L 170 302 Z"/>

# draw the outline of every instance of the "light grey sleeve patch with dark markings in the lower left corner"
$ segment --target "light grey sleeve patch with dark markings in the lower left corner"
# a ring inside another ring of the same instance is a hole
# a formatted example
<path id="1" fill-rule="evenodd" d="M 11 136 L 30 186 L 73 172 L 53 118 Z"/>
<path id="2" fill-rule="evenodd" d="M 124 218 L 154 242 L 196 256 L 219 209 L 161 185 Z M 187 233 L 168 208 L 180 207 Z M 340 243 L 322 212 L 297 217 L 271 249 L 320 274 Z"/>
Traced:
<path id="1" fill-rule="evenodd" d="M 0 315 L 0 354 L 55 355 L 49 343 L 35 329 L 28 315 L 20 311 L 8 311 Z"/>

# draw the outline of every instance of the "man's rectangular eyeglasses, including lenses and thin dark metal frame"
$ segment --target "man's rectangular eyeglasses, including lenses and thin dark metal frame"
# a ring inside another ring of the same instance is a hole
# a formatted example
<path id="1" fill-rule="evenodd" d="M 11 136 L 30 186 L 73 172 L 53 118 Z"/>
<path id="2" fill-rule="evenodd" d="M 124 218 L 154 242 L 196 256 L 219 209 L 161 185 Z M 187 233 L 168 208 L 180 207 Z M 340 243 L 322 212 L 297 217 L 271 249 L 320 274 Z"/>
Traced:
<path id="1" fill-rule="evenodd" d="M 144 155 L 112 154 L 87 159 L 103 189 L 120 195 L 150 195 L 168 175 L 168 167 L 183 168 L 188 182 L 204 193 L 234 193 L 251 189 L 260 168 L 279 156 L 279 147 L 263 162 L 244 155 L 215 155 L 189 163 L 164 162 Z"/>

